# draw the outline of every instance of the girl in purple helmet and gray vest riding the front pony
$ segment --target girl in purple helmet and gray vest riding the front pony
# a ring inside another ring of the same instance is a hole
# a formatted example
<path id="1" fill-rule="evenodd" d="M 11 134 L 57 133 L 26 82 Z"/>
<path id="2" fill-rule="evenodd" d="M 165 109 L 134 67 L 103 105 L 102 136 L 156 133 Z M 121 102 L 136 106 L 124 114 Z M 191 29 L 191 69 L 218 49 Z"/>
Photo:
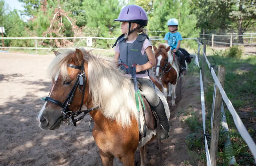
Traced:
<path id="1" fill-rule="evenodd" d="M 136 64 L 136 77 L 141 83 L 140 90 L 147 91 L 145 97 L 156 112 L 162 128 L 164 128 L 160 133 L 161 140 L 167 139 L 170 125 L 167 121 L 163 102 L 156 94 L 147 71 L 156 65 L 147 30 L 144 29 L 148 24 L 148 15 L 142 7 L 128 5 L 122 9 L 118 19 L 114 21 L 122 22 L 121 30 L 123 33 L 113 46 L 116 46 L 114 60 L 118 64 L 126 64 L 128 69 L 124 66 L 121 66 L 121 69 L 130 76 L 132 64 Z"/>

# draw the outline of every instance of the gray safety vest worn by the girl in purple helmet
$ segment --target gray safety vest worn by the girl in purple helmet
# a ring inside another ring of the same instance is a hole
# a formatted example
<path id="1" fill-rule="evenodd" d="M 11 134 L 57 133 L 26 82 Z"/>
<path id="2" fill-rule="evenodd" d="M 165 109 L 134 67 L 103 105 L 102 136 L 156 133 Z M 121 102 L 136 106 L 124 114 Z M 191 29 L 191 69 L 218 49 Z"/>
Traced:
<path id="1" fill-rule="evenodd" d="M 142 65 L 148 62 L 147 54 L 141 54 L 141 49 L 146 38 L 148 38 L 146 34 L 139 34 L 133 43 L 125 43 L 124 37 L 118 40 L 120 50 L 118 63 L 126 64 L 130 72 L 132 72 L 132 64 Z M 121 69 L 124 70 L 125 73 L 130 73 L 124 66 L 121 66 Z M 138 74 L 145 74 L 145 72 L 146 70 Z"/>

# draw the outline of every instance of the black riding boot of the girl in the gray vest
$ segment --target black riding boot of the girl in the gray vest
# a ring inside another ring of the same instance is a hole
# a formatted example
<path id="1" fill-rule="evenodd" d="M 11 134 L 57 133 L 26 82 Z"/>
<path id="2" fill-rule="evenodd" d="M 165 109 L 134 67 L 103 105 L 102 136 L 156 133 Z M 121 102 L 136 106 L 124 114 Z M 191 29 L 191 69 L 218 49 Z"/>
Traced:
<path id="1" fill-rule="evenodd" d="M 162 126 L 162 127 L 160 126 L 160 128 L 162 129 L 161 133 L 160 133 L 161 140 L 169 138 L 168 132 L 169 132 L 170 125 L 167 121 L 167 117 L 166 117 L 165 110 L 164 110 L 164 104 L 163 104 L 162 100 L 160 99 L 160 102 L 158 103 L 157 106 L 155 106 L 155 107 L 152 106 L 152 107 L 153 107 L 154 111 L 156 112 L 156 115 L 157 115 L 157 117 L 160 121 L 160 124 Z"/>

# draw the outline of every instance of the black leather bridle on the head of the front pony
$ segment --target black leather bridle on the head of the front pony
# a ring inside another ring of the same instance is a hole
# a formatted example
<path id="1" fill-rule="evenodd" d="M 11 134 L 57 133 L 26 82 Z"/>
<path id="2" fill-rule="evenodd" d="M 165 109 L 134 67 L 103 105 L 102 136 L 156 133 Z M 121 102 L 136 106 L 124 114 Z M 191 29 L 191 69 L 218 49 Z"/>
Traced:
<path id="1" fill-rule="evenodd" d="M 51 97 L 46 97 L 45 99 L 43 99 L 45 102 L 51 102 L 53 104 L 56 104 L 58 106 L 60 106 L 61 108 L 63 108 L 63 110 L 61 111 L 61 114 L 63 115 L 62 118 L 63 119 L 67 119 L 68 122 L 67 122 L 67 125 L 72 125 L 74 124 L 74 126 L 76 126 L 76 122 L 80 121 L 81 119 L 83 119 L 83 117 L 95 110 L 95 109 L 98 109 L 99 107 L 93 107 L 91 109 L 86 109 L 86 110 L 81 110 L 82 109 L 82 106 L 83 106 L 83 102 L 84 102 L 84 90 L 85 90 L 85 86 L 86 86 L 86 75 L 85 75 L 85 72 L 84 72 L 84 61 L 82 63 L 81 66 L 76 66 L 76 65 L 73 65 L 73 64 L 68 64 L 68 67 L 72 67 L 72 68 L 75 68 L 75 69 L 79 69 L 81 70 L 81 73 L 79 73 L 76 77 L 76 81 L 71 89 L 71 91 L 69 92 L 66 100 L 61 103 Z M 80 86 L 83 86 L 82 89 L 80 88 Z M 75 92 L 76 92 L 76 89 L 77 87 L 79 87 L 79 90 L 82 92 L 82 101 L 81 101 L 81 104 L 80 104 L 80 108 L 78 111 L 76 112 L 73 112 L 71 110 L 68 109 L 68 105 L 71 104 L 71 102 L 74 102 L 73 101 L 73 98 L 75 96 Z M 83 113 L 84 112 L 84 115 L 82 115 L 81 117 L 78 117 L 78 118 L 74 118 L 74 117 L 77 117 L 79 114 Z M 70 120 L 71 118 L 71 120 Z"/>

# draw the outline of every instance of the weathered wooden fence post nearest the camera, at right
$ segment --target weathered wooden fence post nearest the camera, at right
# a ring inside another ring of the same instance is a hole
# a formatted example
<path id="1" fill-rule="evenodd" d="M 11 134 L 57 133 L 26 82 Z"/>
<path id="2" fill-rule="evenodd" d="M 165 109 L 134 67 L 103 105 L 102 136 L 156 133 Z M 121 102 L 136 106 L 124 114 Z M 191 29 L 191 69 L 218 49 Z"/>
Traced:
<path id="1" fill-rule="evenodd" d="M 224 87 L 225 71 L 226 71 L 226 67 L 224 65 L 218 65 L 218 79 L 220 80 L 220 84 L 222 87 Z M 215 105 L 214 105 L 211 147 L 210 147 L 210 156 L 211 156 L 212 166 L 216 166 L 216 160 L 217 160 L 217 151 L 218 151 L 218 142 L 219 142 L 219 133 L 220 133 L 221 103 L 222 103 L 222 96 L 220 94 L 220 89 L 216 87 L 216 98 L 215 98 Z"/>

